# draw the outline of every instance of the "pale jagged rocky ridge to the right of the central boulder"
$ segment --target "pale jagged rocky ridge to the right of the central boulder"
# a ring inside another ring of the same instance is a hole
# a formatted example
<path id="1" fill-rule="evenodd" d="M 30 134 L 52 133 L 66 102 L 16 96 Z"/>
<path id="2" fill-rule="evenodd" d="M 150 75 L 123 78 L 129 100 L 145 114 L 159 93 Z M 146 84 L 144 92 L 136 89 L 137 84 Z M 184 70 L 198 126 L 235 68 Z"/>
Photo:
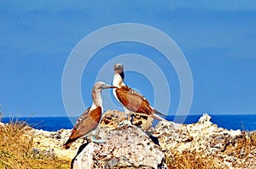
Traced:
<path id="1" fill-rule="evenodd" d="M 175 161 L 174 153 L 178 156 L 189 151 L 201 155 L 198 158 L 212 157 L 220 168 L 256 167 L 255 134 L 253 138 L 252 132 L 228 131 L 210 120 L 211 116 L 204 114 L 197 123 L 189 125 L 160 121 L 154 127 L 154 136 L 159 138 L 161 149 L 172 161 Z"/>

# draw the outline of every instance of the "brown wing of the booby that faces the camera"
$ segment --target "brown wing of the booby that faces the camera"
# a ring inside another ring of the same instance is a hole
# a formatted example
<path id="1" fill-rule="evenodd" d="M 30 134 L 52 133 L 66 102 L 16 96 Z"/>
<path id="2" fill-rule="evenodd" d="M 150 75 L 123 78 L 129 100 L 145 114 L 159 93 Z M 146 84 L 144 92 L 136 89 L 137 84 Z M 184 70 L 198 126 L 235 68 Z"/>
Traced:
<path id="1" fill-rule="evenodd" d="M 135 92 L 130 87 L 120 87 L 115 90 L 116 96 L 119 101 L 128 109 L 133 112 L 152 115 L 154 110 L 151 108 L 148 100 L 143 95 Z"/>

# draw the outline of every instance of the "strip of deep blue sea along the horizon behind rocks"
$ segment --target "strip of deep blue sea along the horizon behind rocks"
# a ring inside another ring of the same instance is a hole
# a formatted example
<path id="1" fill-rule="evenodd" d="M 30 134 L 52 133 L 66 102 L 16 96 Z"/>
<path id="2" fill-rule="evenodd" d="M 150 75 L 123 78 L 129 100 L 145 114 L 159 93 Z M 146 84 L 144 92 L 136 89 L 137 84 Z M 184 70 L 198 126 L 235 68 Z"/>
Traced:
<path id="1" fill-rule="evenodd" d="M 233 130 L 256 130 L 256 115 L 211 115 L 212 122 L 217 124 L 218 127 L 224 127 Z M 184 124 L 195 123 L 199 120 L 201 115 L 189 115 L 187 116 Z M 167 116 L 167 120 L 172 121 L 174 116 Z M 3 117 L 3 122 L 8 123 L 12 118 Z M 15 118 L 13 121 L 16 120 Z M 77 117 L 68 118 L 63 117 L 19 117 L 18 121 L 26 121 L 34 128 L 43 129 L 46 131 L 57 131 L 61 128 L 72 129 L 73 123 L 77 120 Z"/>

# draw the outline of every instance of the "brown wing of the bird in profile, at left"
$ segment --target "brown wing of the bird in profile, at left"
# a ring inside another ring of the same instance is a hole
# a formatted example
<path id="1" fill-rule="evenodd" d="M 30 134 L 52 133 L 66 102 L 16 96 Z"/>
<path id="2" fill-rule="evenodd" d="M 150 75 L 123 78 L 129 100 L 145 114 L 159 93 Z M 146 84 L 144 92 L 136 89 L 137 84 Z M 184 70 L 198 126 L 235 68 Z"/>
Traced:
<path id="1" fill-rule="evenodd" d="M 67 143 L 64 144 L 65 148 L 68 149 L 70 144 L 72 144 L 78 138 L 95 130 L 100 123 L 101 118 L 102 108 L 100 106 L 96 107 L 94 110 L 91 110 L 90 108 L 86 110 L 83 115 L 80 115 L 78 121 L 76 121 L 70 138 L 67 140 Z"/>

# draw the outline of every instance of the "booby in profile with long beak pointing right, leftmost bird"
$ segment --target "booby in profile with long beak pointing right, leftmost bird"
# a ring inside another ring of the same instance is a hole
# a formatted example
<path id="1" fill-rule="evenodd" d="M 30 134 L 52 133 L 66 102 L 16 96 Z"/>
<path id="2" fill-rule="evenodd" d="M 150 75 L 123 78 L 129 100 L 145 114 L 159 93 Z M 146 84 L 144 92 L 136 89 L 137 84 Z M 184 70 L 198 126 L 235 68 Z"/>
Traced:
<path id="1" fill-rule="evenodd" d="M 96 82 L 92 89 L 92 100 L 93 103 L 91 107 L 88 108 L 76 121 L 75 126 L 73 127 L 73 131 L 71 132 L 71 136 L 68 138 L 66 144 L 64 144 L 64 148 L 68 149 L 74 141 L 81 138 L 82 136 L 92 136 L 91 142 L 94 143 L 104 143 L 103 139 L 96 139 L 96 128 L 99 123 L 102 121 L 102 89 L 105 88 L 113 88 L 113 86 L 109 86 L 104 82 Z"/>

